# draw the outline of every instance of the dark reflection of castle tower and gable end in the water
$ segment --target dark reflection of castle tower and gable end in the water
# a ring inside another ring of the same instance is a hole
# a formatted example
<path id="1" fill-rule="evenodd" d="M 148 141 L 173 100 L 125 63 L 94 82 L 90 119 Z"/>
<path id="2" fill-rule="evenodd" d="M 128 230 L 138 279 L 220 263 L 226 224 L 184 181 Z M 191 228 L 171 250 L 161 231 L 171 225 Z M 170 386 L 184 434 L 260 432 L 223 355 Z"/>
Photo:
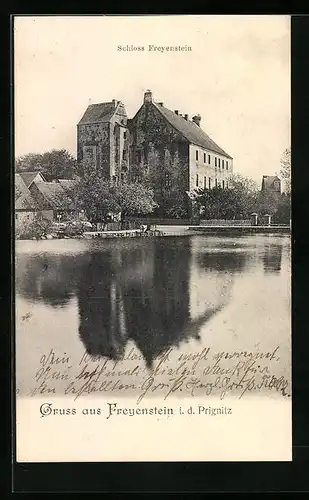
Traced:
<path id="1" fill-rule="evenodd" d="M 92 254 L 78 287 L 79 333 L 87 352 L 118 359 L 127 339 L 150 364 L 177 343 L 190 322 L 190 242 L 122 242 Z M 180 264 L 183 265 L 180 265 Z"/>

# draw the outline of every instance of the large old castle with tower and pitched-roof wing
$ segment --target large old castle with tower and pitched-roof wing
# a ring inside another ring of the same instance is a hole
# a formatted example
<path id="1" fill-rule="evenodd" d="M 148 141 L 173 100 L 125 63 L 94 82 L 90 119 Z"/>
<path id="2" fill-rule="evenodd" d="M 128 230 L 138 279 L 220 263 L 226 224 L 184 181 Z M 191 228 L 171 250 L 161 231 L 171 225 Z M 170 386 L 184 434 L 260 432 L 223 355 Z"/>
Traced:
<path id="1" fill-rule="evenodd" d="M 171 111 L 150 90 L 132 119 L 113 100 L 89 105 L 77 125 L 77 160 L 115 182 L 148 180 L 163 210 L 195 189 L 228 188 L 233 158 L 202 129 L 201 116 Z M 189 195 L 189 196 L 188 196 Z"/>

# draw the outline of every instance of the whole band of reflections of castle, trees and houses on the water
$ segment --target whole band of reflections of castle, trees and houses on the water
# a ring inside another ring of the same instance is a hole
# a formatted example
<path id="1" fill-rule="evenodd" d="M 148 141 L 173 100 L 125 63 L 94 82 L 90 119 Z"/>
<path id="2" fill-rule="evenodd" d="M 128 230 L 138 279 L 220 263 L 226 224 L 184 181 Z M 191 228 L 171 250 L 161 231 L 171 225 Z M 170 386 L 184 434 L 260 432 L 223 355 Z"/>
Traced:
<path id="1" fill-rule="evenodd" d="M 52 307 L 76 296 L 79 337 L 90 355 L 117 360 L 133 340 L 151 366 L 170 346 L 199 341 L 201 327 L 228 303 L 233 276 L 252 260 L 235 242 L 212 243 L 149 238 L 100 242 L 78 255 L 19 255 L 16 290 Z M 281 255 L 280 243 L 266 243 L 265 271 L 280 271 Z"/>

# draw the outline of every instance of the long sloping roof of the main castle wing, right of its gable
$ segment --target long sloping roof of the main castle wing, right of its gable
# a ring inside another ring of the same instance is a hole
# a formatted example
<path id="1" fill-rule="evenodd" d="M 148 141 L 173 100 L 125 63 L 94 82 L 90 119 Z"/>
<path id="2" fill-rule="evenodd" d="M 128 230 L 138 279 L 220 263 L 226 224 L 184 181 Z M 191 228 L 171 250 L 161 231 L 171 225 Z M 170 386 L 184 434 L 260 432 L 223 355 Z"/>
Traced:
<path id="1" fill-rule="evenodd" d="M 202 148 L 209 149 L 214 153 L 218 153 L 222 156 L 232 159 L 232 157 L 227 154 L 218 144 L 216 144 L 201 127 L 196 125 L 191 120 L 186 120 L 184 117 L 176 115 L 174 111 L 171 111 L 161 104 L 153 102 L 153 105 L 158 111 L 166 118 L 166 120 L 180 132 L 190 143 L 201 146 Z"/>

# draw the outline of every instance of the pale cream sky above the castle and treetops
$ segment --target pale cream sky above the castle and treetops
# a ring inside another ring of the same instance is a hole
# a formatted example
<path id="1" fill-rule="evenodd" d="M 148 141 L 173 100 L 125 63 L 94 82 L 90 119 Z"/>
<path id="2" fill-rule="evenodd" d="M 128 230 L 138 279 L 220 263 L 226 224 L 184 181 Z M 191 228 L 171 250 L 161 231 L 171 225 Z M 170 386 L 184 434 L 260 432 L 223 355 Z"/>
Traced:
<path id="1" fill-rule="evenodd" d="M 199 113 L 234 172 L 257 182 L 280 170 L 290 146 L 289 16 L 15 17 L 14 76 L 16 157 L 51 149 L 76 157 L 90 102 L 120 100 L 132 118 L 147 89 L 189 119 Z"/>

